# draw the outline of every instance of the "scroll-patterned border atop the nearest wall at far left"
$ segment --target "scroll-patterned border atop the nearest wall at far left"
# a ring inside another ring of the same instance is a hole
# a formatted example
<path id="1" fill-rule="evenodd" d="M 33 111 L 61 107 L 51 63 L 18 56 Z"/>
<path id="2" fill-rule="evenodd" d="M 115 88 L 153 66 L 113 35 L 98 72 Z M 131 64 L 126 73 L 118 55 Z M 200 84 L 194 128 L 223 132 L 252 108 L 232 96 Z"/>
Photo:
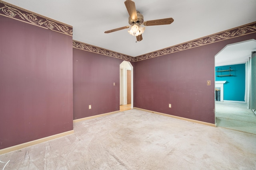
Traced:
<path id="1" fill-rule="evenodd" d="M 52 31 L 64 33 L 66 35 L 73 35 L 73 28 L 70 25 L 46 18 L 3 1 L 0 1 L 0 15 L 44 27 Z"/>

